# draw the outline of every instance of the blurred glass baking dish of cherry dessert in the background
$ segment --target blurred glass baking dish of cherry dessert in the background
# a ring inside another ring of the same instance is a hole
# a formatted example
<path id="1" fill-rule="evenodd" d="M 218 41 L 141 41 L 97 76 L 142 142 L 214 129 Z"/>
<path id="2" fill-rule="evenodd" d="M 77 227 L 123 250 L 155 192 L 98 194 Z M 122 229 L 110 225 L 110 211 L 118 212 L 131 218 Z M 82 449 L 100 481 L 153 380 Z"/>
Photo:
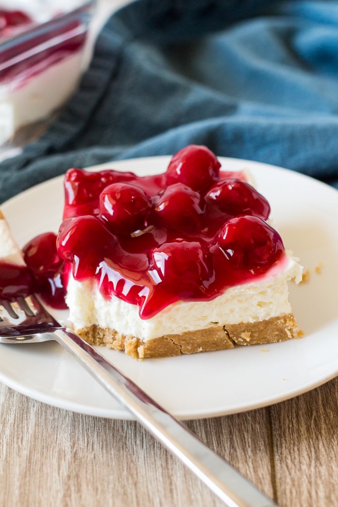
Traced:
<path id="1" fill-rule="evenodd" d="M 4 37 L 0 31 L 0 146 L 10 144 L 22 126 L 48 117 L 76 89 L 94 4 L 77 2 L 44 22 L 37 16 Z M 38 12 L 41 18 L 43 10 Z"/>

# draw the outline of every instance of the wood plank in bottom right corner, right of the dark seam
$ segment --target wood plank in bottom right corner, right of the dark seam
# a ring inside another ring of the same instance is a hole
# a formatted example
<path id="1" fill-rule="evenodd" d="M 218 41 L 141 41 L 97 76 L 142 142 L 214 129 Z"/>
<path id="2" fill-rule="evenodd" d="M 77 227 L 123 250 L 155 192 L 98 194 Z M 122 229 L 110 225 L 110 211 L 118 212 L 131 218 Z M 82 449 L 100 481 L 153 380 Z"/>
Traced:
<path id="1" fill-rule="evenodd" d="M 270 407 L 277 500 L 338 506 L 338 378 Z"/>

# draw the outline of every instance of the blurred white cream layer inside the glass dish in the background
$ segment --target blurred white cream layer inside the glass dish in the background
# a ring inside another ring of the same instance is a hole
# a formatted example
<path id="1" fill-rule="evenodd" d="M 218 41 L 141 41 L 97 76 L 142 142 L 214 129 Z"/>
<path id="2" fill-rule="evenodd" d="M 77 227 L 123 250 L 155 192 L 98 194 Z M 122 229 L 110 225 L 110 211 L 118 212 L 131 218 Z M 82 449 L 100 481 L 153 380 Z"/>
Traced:
<path id="1" fill-rule="evenodd" d="M 0 145 L 20 126 L 47 117 L 74 92 L 81 72 L 82 50 L 31 77 L 0 83 Z"/>

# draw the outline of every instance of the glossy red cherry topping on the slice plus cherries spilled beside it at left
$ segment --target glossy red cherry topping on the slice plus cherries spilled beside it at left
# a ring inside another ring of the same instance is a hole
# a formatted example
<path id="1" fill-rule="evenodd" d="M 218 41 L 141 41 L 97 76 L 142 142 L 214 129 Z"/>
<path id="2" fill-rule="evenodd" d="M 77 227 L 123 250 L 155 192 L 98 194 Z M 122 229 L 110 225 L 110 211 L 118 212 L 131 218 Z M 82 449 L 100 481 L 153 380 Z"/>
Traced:
<path id="1" fill-rule="evenodd" d="M 243 172 L 220 172 L 205 146 L 187 146 L 154 176 L 71 169 L 65 194 L 57 251 L 53 235 L 52 250 L 41 236 L 24 248 L 38 292 L 56 280 L 59 302 L 72 268 L 75 280 L 95 279 L 104 297 L 138 305 L 147 319 L 175 301 L 212 300 L 285 259 L 266 199 Z"/>

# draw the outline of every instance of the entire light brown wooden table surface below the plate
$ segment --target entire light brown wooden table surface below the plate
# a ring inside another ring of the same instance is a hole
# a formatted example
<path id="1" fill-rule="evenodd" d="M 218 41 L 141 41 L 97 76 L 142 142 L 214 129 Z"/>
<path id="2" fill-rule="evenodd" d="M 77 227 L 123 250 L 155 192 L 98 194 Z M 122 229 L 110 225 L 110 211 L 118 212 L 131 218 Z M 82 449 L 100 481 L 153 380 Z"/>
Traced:
<path id="1" fill-rule="evenodd" d="M 282 507 L 338 505 L 338 378 L 286 402 L 185 424 Z M 135 421 L 0 384 L 0 507 L 224 505 Z"/>

